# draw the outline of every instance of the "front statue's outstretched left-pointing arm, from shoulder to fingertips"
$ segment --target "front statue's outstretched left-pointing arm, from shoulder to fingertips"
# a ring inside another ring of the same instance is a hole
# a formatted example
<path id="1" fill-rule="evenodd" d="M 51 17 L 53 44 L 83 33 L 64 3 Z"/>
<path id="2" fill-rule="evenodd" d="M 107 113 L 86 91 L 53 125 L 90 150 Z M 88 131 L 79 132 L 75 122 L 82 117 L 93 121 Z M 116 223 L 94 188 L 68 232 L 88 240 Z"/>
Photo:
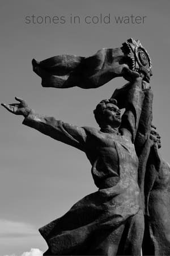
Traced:
<path id="1" fill-rule="evenodd" d="M 2 104 L 9 112 L 16 115 L 23 115 L 23 124 L 39 130 L 41 133 L 76 147 L 84 151 L 86 143 L 86 132 L 82 127 L 70 125 L 56 120 L 54 117 L 46 117 L 45 115 L 36 114 L 28 104 L 21 98 L 15 97 L 19 104 Z"/>

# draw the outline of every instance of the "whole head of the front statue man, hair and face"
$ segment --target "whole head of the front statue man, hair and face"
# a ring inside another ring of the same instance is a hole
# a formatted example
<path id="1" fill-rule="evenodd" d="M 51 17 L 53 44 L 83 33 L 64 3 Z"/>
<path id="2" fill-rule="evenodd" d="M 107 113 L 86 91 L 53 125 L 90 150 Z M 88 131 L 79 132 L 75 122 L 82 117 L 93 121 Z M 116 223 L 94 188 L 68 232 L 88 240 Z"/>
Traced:
<path id="1" fill-rule="evenodd" d="M 121 111 L 117 106 L 117 101 L 113 98 L 100 101 L 94 110 L 94 114 L 100 128 L 107 125 L 117 128 L 121 124 Z"/>

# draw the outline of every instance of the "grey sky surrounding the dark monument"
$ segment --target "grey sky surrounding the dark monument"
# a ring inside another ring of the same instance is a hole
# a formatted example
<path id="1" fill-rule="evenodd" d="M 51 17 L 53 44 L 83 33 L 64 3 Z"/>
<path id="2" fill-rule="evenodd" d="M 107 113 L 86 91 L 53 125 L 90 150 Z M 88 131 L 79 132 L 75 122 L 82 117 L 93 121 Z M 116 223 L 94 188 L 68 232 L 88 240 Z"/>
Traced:
<path id="1" fill-rule="evenodd" d="M 64 53 L 90 56 L 139 39 L 153 63 L 153 123 L 162 137 L 162 156 L 170 162 L 169 7 L 169 0 L 1 0 L 1 102 L 22 97 L 37 113 L 97 127 L 92 110 L 126 81 L 119 77 L 89 90 L 42 88 L 31 60 Z M 127 15 L 141 16 L 143 22 L 115 22 L 115 16 Z M 58 16 L 59 23 L 45 24 L 45 16 Z M 79 16 L 80 23 L 71 23 L 71 16 Z M 91 23 L 84 22 L 86 16 Z M 101 22 L 92 23 L 94 16 Z M 47 246 L 38 229 L 96 191 L 91 166 L 83 152 L 22 125 L 23 117 L 3 108 L 0 116 L 0 255 L 40 255 Z"/>

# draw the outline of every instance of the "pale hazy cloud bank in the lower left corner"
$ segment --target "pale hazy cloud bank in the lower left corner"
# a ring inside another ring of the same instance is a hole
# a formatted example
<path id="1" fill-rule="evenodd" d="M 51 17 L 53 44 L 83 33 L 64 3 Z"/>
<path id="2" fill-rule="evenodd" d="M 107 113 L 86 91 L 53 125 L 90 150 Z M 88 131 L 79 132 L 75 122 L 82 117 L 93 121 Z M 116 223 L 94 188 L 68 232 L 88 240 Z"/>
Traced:
<path id="1" fill-rule="evenodd" d="M 0 218 L 0 227 L 0 256 L 42 256 L 42 251 L 35 248 L 47 250 L 38 229 L 29 223 Z"/>

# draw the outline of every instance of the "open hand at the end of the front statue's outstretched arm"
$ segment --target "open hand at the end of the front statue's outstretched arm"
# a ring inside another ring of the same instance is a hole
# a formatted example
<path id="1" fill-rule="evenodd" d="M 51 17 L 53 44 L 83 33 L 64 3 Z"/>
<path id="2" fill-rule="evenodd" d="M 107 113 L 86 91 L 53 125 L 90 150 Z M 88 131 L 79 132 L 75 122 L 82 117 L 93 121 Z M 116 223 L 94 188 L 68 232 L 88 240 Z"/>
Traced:
<path id="1" fill-rule="evenodd" d="M 4 108 L 15 115 L 23 115 L 27 117 L 31 109 L 28 107 L 28 104 L 22 100 L 22 98 L 15 97 L 15 100 L 19 101 L 20 103 L 12 103 L 12 104 L 1 104 Z"/>

